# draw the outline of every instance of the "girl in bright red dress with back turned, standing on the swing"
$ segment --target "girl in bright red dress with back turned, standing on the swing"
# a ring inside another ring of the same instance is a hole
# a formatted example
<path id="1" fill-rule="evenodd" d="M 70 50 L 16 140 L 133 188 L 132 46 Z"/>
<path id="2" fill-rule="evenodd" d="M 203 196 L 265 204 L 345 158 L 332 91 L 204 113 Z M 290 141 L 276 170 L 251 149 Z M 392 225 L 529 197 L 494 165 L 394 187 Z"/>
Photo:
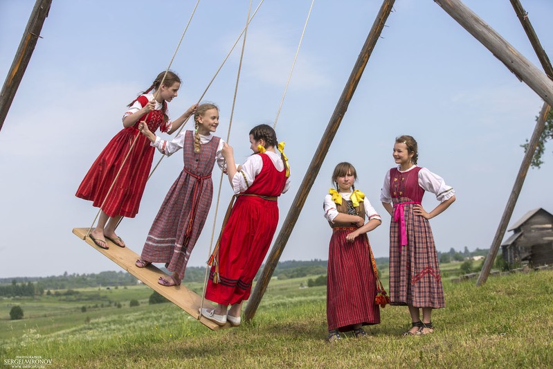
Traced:
<path id="1" fill-rule="evenodd" d="M 278 143 L 273 128 L 258 125 L 250 131 L 253 155 L 236 168 L 233 148 L 224 146 L 228 179 L 237 196 L 228 222 L 214 251 L 206 298 L 216 309 L 202 309 L 206 318 L 224 325 L 240 324 L 242 302 L 250 296 L 278 224 L 277 198 L 290 186 L 290 169 L 284 143 Z M 278 151 L 279 152 L 278 152 Z M 227 312 L 228 305 L 231 305 Z"/>

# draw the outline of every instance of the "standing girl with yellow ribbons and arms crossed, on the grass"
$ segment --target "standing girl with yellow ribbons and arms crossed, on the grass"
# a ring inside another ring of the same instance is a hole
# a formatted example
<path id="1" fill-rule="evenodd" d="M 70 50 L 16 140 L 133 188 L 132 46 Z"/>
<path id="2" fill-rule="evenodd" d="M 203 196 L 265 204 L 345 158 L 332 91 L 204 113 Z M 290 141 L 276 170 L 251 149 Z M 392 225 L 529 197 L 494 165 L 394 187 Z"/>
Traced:
<path id="1" fill-rule="evenodd" d="M 356 190 L 357 172 L 350 163 L 334 168 L 331 188 L 325 196 L 325 218 L 332 227 L 328 253 L 327 321 L 328 339 L 340 339 L 338 332 L 366 335 L 363 325 L 380 323 L 376 264 L 367 233 L 382 221 L 363 192 Z M 365 216 L 368 222 L 365 223 Z M 374 264 L 374 265 L 373 265 Z"/>

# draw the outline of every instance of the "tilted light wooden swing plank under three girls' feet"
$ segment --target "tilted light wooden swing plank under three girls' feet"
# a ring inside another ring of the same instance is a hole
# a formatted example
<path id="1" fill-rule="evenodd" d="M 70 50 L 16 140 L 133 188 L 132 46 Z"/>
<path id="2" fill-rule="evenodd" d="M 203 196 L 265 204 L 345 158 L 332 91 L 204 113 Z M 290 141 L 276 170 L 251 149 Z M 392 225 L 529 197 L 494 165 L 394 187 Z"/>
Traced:
<path id="1" fill-rule="evenodd" d="M 141 280 L 145 285 L 154 291 L 158 292 L 161 296 L 167 298 L 172 303 L 183 309 L 185 312 L 198 319 L 200 323 L 206 325 L 210 330 L 219 330 L 221 328 L 230 327 L 230 323 L 226 325 L 217 325 L 217 323 L 210 321 L 209 319 L 200 316 L 199 308 L 201 306 L 201 296 L 196 294 L 191 289 L 188 289 L 185 285 L 181 284 L 180 286 L 164 287 L 158 283 L 159 277 L 167 276 L 163 271 L 150 264 L 145 268 L 138 268 L 134 264 L 140 256 L 138 256 L 134 251 L 129 249 L 129 247 L 119 247 L 113 242 L 106 240 L 109 249 L 101 249 L 96 246 L 90 237 L 86 237 L 89 228 L 73 228 L 73 233 L 77 235 L 81 240 L 87 242 L 97 251 L 107 256 L 113 262 L 116 262 L 120 267 L 131 273 L 133 276 Z M 203 307 L 208 309 L 213 309 L 214 307 L 207 301 L 204 300 Z"/>

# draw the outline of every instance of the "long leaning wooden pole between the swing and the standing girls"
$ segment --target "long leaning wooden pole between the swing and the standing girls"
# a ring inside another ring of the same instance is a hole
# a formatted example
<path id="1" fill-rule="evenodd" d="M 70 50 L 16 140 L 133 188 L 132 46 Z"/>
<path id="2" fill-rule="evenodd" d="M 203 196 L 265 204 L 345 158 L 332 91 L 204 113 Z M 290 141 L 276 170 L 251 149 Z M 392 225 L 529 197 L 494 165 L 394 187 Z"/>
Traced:
<path id="1" fill-rule="evenodd" d="M 361 75 L 363 75 L 363 71 L 369 61 L 369 57 L 374 49 L 374 46 L 377 44 L 377 41 L 382 33 L 384 24 L 386 24 L 386 19 L 388 19 L 388 15 L 390 15 L 390 12 L 392 11 L 394 2 L 395 0 L 383 1 L 377 15 L 377 19 L 375 19 L 374 24 L 372 24 L 370 33 L 365 41 L 365 44 L 363 45 L 363 48 L 361 49 L 361 53 L 357 58 L 357 62 L 354 65 L 352 73 L 350 74 L 350 79 L 347 80 L 347 83 L 345 84 L 345 88 L 340 96 L 340 99 L 338 100 L 338 103 L 336 104 L 334 113 L 330 117 L 327 129 L 323 134 L 323 138 L 320 140 L 313 159 L 311 159 L 311 163 L 309 164 L 309 168 L 307 169 L 307 173 L 300 184 L 300 189 L 292 202 L 293 205 L 284 220 L 284 224 L 282 225 L 277 239 L 275 240 L 275 244 L 273 245 L 273 249 L 271 249 L 271 253 L 269 254 L 269 258 L 267 259 L 262 274 L 255 284 L 251 298 L 248 300 L 248 305 L 246 306 L 246 310 L 244 312 L 246 321 L 255 316 L 255 311 L 261 302 L 261 298 L 265 293 L 267 285 L 269 285 L 271 276 L 273 276 L 273 271 L 275 271 L 276 264 L 280 259 L 282 251 L 284 251 L 284 246 L 286 246 L 288 242 L 293 227 L 296 225 L 296 221 L 298 220 L 303 205 L 305 204 L 305 200 L 307 199 L 307 195 L 309 195 L 309 191 L 311 190 L 311 187 L 317 177 L 320 166 L 323 165 L 323 161 L 327 156 L 327 152 L 334 136 L 336 135 L 336 132 L 338 131 L 338 127 L 340 127 L 345 111 L 347 111 L 347 107 L 350 105 L 350 101 L 352 100 L 357 84 L 361 79 Z"/>

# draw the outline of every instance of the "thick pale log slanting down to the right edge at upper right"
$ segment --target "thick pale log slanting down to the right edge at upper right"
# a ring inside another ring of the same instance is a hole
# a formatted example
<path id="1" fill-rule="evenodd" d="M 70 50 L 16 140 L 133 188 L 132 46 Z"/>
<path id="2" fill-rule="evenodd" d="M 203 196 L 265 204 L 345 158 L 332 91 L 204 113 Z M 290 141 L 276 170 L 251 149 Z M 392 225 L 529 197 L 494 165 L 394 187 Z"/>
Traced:
<path id="1" fill-rule="evenodd" d="M 549 105 L 553 105 L 553 81 L 488 26 L 460 0 L 434 0 L 457 23 L 478 39 L 493 55 Z"/>

